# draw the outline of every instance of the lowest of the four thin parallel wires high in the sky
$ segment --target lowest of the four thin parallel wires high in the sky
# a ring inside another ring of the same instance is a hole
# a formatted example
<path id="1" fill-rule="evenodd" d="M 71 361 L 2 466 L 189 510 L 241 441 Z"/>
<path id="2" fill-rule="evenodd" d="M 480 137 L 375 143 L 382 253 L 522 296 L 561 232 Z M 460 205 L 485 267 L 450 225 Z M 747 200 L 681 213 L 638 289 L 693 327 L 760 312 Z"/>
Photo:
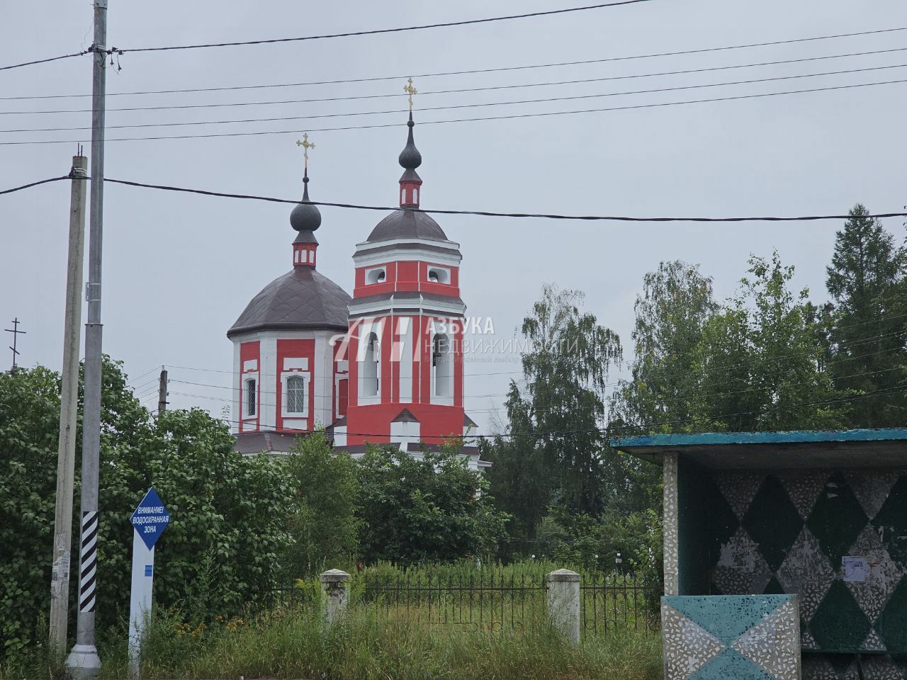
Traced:
<path id="1" fill-rule="evenodd" d="M 574 115 L 578 113 L 596 113 L 596 112 L 610 112 L 610 111 L 631 111 L 638 109 L 656 109 L 665 106 L 679 106 L 685 104 L 703 104 L 703 103 L 712 103 L 712 102 L 733 102 L 739 100 L 748 100 L 748 99 L 761 99 L 763 97 L 778 97 L 788 94 L 804 94 L 812 92 L 831 92 L 836 90 L 852 90 L 854 88 L 860 87 L 873 87 L 876 85 L 892 85 L 899 83 L 907 83 L 907 79 L 902 80 L 893 80 L 893 81 L 880 81 L 876 83 L 856 83 L 851 85 L 835 85 L 829 87 L 816 87 L 809 88 L 805 90 L 788 90 L 785 92 L 762 92 L 759 94 L 740 94 L 730 97 L 714 97 L 711 99 L 696 99 L 696 100 L 687 100 L 683 102 L 655 102 L 648 104 L 628 104 L 625 106 L 610 106 L 603 108 L 595 109 L 580 109 L 574 111 L 554 111 L 554 112 L 541 112 L 541 113 L 512 113 L 507 115 L 497 115 L 497 116 L 479 116 L 475 118 L 455 118 L 442 121 L 421 121 L 420 125 L 439 125 L 447 124 L 453 122 L 477 122 L 477 121 L 512 121 L 519 118 L 542 118 L 548 116 L 561 116 L 561 115 Z M 347 130 L 375 130 L 378 128 L 396 128 L 402 127 L 405 123 L 377 123 L 372 125 L 348 125 L 344 127 L 334 127 L 334 128 L 308 128 L 309 132 L 332 132 L 332 131 L 347 131 Z M 184 134 L 184 135 L 155 135 L 152 137 L 118 137 L 118 138 L 108 138 L 107 141 L 160 141 L 160 140 L 196 140 L 196 139 L 211 139 L 219 137 L 255 137 L 260 135 L 272 135 L 272 134 L 296 134 L 296 130 L 271 130 L 271 131 L 251 131 L 251 132 L 212 132 L 206 134 Z M 75 144 L 79 142 L 84 142 L 85 140 L 33 140 L 33 141 L 0 141 L 0 146 L 10 146 L 10 145 L 23 145 L 23 144 Z M 321 204 L 326 205 L 326 204 Z M 520 216 L 523 217 L 523 216 Z M 644 220 L 651 221 L 651 220 Z"/>

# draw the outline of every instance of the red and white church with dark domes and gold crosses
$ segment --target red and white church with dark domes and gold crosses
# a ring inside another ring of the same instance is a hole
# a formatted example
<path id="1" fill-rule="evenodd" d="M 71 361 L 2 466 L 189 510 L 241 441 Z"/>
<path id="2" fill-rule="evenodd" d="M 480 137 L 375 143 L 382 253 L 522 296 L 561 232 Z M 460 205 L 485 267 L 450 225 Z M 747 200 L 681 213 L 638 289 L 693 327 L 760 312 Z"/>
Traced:
<path id="1" fill-rule="evenodd" d="M 297 436 L 321 427 L 355 457 L 367 443 L 418 457 L 476 435 L 463 410 L 460 246 L 418 210 L 422 155 L 412 112 L 407 125 L 400 209 L 356 245 L 352 297 L 317 271 L 321 213 L 309 202 L 306 169 L 290 213 L 293 268 L 227 332 L 239 452 L 288 452 Z M 489 465 L 468 441 L 462 452 L 473 470 Z"/>

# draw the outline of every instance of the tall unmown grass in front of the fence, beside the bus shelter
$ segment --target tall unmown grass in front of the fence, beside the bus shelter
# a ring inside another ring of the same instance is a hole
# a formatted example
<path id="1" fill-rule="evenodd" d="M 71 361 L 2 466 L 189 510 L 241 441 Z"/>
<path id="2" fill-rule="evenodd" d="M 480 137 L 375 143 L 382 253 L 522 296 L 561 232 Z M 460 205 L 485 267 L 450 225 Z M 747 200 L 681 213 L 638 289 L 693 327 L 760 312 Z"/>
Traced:
<path id="1" fill-rule="evenodd" d="M 410 613 L 412 615 L 412 613 Z M 314 611 L 254 624 L 236 621 L 187 631 L 157 617 L 142 677 L 311 678 L 318 680 L 649 680 L 661 677 L 655 635 L 588 636 L 573 646 L 543 621 L 521 632 L 426 626 L 397 612 L 393 623 L 353 608 L 325 627 Z M 124 644 L 108 650 L 103 677 L 123 677 Z"/>

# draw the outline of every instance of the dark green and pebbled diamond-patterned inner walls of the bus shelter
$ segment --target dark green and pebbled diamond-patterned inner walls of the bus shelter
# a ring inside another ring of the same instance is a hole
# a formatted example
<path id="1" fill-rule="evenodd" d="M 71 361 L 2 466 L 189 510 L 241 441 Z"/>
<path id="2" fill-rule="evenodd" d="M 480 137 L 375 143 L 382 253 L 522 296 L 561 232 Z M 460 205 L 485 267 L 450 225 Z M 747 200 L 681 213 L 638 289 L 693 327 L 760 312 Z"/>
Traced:
<path id="1" fill-rule="evenodd" d="M 865 677 L 907 677 L 885 655 L 907 653 L 907 471 L 709 472 L 681 458 L 677 497 L 680 593 L 796 594 L 805 677 L 858 677 L 852 655 L 810 650 L 866 652 Z"/>

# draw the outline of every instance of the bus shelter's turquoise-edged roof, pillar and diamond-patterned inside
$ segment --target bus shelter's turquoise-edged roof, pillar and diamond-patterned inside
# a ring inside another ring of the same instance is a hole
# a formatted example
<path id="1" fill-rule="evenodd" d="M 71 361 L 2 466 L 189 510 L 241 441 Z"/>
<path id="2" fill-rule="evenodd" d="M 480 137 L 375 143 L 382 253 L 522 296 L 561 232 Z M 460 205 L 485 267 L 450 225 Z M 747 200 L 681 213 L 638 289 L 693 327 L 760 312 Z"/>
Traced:
<path id="1" fill-rule="evenodd" d="M 907 677 L 907 429 L 611 443 L 663 468 L 666 596 L 795 595 L 805 678 Z"/>

